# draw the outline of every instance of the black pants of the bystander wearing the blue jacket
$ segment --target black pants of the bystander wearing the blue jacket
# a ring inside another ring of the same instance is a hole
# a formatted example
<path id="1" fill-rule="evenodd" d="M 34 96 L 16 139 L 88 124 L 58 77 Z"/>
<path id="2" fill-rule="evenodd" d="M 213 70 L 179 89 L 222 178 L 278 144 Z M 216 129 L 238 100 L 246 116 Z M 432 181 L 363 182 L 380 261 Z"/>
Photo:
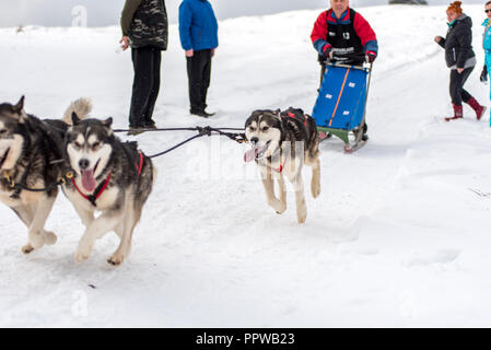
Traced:
<path id="1" fill-rule="evenodd" d="M 210 86 L 211 50 L 195 51 L 187 57 L 187 74 L 189 80 L 189 102 L 191 113 L 203 112 L 207 107 L 207 93 Z"/>

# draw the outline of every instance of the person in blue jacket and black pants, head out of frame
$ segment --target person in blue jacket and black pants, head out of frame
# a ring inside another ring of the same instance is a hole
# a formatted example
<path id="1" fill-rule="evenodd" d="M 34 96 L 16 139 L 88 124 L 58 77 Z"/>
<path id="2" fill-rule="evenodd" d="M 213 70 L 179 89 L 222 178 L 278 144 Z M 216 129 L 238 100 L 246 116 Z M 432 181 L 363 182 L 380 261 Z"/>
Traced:
<path id="1" fill-rule="evenodd" d="M 186 51 L 190 113 L 208 118 L 207 93 L 211 58 L 219 46 L 218 22 L 208 0 L 184 0 L 179 5 L 180 45 Z"/>

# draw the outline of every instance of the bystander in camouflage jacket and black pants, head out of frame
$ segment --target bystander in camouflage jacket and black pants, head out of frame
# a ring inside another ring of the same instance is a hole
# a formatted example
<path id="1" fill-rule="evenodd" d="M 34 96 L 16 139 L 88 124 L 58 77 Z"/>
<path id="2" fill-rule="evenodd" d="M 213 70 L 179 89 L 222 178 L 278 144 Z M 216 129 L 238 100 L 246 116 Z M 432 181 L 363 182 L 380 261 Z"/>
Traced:
<path id="1" fill-rule="evenodd" d="M 128 135 L 155 129 L 152 119 L 161 85 L 162 50 L 167 49 L 164 0 L 126 0 L 121 13 L 122 50 L 131 47 L 135 80 Z"/>

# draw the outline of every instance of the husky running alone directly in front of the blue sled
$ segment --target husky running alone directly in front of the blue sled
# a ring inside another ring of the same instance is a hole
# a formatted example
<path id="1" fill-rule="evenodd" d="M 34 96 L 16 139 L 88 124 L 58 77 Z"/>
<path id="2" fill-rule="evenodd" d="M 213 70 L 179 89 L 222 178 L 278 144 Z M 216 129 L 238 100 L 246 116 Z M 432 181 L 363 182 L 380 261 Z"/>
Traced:
<path id="1" fill-rule="evenodd" d="M 245 135 L 252 149 L 244 160 L 254 160 L 259 165 L 268 205 L 279 214 L 287 209 L 284 174 L 295 190 L 297 221 L 305 222 L 304 163 L 312 166 L 312 196 L 316 198 L 320 194 L 319 138 L 315 120 L 292 107 L 283 113 L 280 109 L 255 110 L 246 120 Z M 274 195 L 274 178 L 280 187 L 280 199 Z"/>

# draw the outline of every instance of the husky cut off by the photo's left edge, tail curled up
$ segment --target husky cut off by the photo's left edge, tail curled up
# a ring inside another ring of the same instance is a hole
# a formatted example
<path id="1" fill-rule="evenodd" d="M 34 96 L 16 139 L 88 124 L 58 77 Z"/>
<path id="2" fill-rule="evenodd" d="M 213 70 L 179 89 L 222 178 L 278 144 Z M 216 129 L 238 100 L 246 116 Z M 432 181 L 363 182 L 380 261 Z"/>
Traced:
<path id="1" fill-rule="evenodd" d="M 55 233 L 44 226 L 62 176 L 63 133 L 72 113 L 84 118 L 90 110 L 90 101 L 80 98 L 62 120 L 40 120 L 24 112 L 24 96 L 16 105 L 0 104 L 0 200 L 27 226 L 24 254 L 56 243 Z"/>

